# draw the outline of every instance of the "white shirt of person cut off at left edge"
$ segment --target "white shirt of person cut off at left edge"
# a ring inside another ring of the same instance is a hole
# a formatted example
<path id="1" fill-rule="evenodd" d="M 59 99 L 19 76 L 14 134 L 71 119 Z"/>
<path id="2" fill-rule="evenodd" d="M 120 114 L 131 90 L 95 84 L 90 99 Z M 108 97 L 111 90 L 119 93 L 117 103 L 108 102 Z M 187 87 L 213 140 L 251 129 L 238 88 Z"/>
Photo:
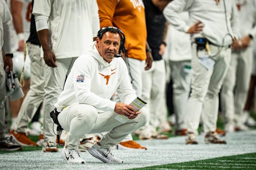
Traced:
<path id="1" fill-rule="evenodd" d="M 0 0 L 0 52 L 2 51 L 4 44 L 3 23 L 7 23 L 9 21 L 11 21 L 11 14 L 8 10 L 8 6 L 4 0 Z"/>

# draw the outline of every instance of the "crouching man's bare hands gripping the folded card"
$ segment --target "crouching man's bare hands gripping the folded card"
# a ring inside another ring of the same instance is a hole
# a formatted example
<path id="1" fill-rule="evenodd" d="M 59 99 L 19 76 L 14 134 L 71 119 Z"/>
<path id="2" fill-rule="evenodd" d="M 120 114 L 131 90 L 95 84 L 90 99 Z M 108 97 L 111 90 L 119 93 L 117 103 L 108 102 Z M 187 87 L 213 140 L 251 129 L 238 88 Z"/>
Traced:
<path id="1" fill-rule="evenodd" d="M 114 112 L 116 112 L 119 115 L 124 115 L 126 117 L 133 117 L 135 115 L 135 109 L 125 103 L 116 103 Z"/>

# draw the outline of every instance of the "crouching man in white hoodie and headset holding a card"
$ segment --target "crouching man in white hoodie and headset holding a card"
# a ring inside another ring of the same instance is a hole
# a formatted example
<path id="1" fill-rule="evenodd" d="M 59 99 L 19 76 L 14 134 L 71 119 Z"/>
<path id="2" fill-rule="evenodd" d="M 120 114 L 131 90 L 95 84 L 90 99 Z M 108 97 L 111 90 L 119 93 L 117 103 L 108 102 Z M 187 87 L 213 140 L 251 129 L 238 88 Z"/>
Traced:
<path id="1" fill-rule="evenodd" d="M 61 152 L 67 163 L 85 163 L 78 150 L 83 134 L 110 130 L 89 152 L 106 163 L 122 163 L 112 154 L 128 134 L 144 126 L 148 120 L 146 108 L 135 112 L 128 104 L 137 96 L 129 79 L 124 60 L 118 56 L 124 48 L 125 37 L 115 27 L 99 30 L 97 40 L 75 61 L 56 103 L 58 121 L 68 132 Z M 110 101 L 115 93 L 123 103 Z M 128 117 L 126 122 L 116 116 Z"/>

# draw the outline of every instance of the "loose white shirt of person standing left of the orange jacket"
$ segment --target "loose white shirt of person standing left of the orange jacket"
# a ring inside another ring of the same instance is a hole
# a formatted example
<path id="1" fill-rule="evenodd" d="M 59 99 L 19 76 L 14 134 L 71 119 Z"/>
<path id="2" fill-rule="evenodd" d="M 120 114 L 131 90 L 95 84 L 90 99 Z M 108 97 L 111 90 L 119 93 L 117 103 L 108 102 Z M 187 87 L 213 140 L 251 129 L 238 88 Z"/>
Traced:
<path id="1" fill-rule="evenodd" d="M 48 21 L 50 49 L 61 59 L 86 51 L 100 29 L 98 10 L 96 0 L 35 0 L 32 13 L 37 31 L 39 20 Z"/>

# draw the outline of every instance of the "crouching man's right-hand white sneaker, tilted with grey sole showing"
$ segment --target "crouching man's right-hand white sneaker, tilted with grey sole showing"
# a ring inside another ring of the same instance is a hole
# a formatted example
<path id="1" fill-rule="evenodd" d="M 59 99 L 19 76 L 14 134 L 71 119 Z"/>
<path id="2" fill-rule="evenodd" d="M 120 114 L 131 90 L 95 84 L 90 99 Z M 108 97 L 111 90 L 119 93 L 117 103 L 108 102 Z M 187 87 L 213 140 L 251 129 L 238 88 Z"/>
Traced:
<path id="1" fill-rule="evenodd" d="M 94 156 L 95 158 L 98 158 L 102 162 L 123 163 L 121 159 L 116 158 L 112 154 L 112 149 L 102 148 L 102 146 L 99 146 L 97 143 L 95 143 L 92 147 L 90 147 L 88 151 L 92 156 Z"/>

